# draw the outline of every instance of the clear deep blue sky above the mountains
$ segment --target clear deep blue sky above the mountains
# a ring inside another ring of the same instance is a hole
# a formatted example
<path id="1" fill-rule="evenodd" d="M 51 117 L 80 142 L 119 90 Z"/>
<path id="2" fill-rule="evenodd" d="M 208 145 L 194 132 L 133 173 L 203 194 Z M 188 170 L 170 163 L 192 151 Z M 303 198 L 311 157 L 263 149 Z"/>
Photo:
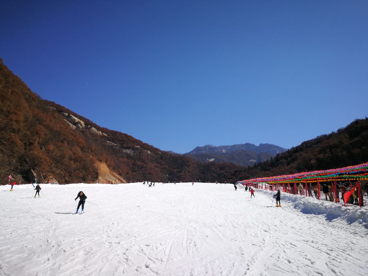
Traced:
<path id="1" fill-rule="evenodd" d="M 291 148 L 368 116 L 368 1 L 3 1 L 43 99 L 159 149 Z"/>

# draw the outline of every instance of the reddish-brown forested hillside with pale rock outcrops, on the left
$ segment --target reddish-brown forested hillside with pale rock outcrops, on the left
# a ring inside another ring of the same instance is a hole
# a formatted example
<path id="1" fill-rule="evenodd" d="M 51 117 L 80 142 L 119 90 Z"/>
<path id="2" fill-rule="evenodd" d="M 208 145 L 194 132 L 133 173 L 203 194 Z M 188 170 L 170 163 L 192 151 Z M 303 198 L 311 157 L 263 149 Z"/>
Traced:
<path id="1" fill-rule="evenodd" d="M 91 183 L 97 161 L 127 181 L 235 181 L 234 164 L 201 164 L 145 144 L 130 135 L 42 100 L 0 60 L 0 183 L 7 176 L 29 181 L 33 170 L 41 182 Z"/>

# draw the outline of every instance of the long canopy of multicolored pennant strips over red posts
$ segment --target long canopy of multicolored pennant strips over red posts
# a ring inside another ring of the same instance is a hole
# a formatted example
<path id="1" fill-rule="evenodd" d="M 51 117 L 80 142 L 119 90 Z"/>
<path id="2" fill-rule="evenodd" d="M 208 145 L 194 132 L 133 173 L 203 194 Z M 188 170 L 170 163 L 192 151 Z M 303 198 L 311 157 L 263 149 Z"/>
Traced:
<path id="1" fill-rule="evenodd" d="M 347 181 L 347 180 L 367 180 L 368 163 L 356 166 L 349 166 L 340 169 L 330 169 L 323 171 L 308 171 L 304 173 L 287 174 L 283 176 L 252 178 L 237 183 L 245 184 L 248 182 L 263 183 L 287 183 L 287 182 L 315 182 L 315 181 Z"/>

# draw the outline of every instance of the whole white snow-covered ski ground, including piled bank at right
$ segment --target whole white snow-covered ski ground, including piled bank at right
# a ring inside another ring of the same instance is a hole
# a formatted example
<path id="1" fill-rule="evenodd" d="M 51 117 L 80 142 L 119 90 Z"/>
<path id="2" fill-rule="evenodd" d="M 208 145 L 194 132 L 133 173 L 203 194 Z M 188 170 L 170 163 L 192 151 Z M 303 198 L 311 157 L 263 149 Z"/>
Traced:
<path id="1" fill-rule="evenodd" d="M 0 275 L 368 275 L 367 207 L 155 186 L 1 186 Z M 79 191 L 91 203 L 74 214 Z"/>

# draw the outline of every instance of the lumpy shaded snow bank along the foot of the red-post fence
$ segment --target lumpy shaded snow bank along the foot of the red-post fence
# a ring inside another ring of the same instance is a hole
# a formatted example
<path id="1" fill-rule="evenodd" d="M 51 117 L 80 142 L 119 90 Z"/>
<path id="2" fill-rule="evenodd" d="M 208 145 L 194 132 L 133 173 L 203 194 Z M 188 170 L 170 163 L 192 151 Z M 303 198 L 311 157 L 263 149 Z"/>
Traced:
<path id="1" fill-rule="evenodd" d="M 275 192 L 262 189 L 257 189 L 257 192 L 269 195 L 270 197 L 275 194 Z M 281 192 L 281 202 L 285 201 L 293 203 L 294 208 L 304 214 L 324 215 L 326 220 L 329 221 L 344 219 L 349 224 L 357 222 L 368 229 L 368 202 L 366 198 L 364 198 L 365 206 L 358 207 L 350 204 L 344 206 L 344 202 L 342 201 L 336 204 L 335 202 L 326 200 L 317 200 L 314 197 L 304 197 Z"/>

